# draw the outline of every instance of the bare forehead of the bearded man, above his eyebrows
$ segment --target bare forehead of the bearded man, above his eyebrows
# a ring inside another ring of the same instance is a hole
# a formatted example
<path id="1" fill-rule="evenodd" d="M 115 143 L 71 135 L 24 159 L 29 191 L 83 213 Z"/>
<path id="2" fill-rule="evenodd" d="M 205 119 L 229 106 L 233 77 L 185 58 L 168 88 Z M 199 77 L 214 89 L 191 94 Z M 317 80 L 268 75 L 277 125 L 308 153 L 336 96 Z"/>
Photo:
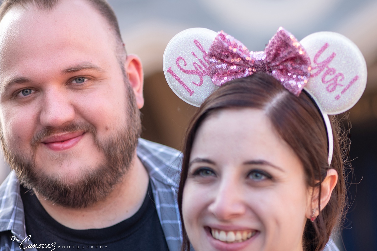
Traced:
<path id="1" fill-rule="evenodd" d="M 15 6 L 0 22 L 0 60 L 16 48 L 26 52 L 38 46 L 60 48 L 79 40 L 88 44 L 106 40 L 107 47 L 115 42 L 109 24 L 86 0 L 64 0 L 48 11 Z"/>

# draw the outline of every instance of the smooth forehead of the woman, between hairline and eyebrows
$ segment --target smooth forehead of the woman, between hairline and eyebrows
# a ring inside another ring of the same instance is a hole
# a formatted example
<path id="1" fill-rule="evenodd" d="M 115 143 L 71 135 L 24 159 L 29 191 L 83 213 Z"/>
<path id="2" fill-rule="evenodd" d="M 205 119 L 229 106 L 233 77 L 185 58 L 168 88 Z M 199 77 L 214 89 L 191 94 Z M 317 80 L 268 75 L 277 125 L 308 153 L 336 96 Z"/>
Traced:
<path id="1" fill-rule="evenodd" d="M 219 110 L 205 119 L 196 133 L 190 159 L 204 155 L 218 161 L 299 161 L 264 111 L 254 108 Z"/>

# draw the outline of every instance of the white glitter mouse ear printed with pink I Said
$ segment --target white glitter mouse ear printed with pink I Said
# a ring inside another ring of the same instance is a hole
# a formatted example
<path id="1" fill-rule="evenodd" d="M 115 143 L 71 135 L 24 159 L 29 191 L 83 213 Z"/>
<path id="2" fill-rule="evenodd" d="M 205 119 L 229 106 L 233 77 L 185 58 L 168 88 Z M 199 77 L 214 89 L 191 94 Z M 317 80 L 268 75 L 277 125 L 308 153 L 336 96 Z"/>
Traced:
<path id="1" fill-rule="evenodd" d="M 163 68 L 174 93 L 190 105 L 200 106 L 219 87 L 208 74 L 207 52 L 217 32 L 192 28 L 175 35 L 167 45 Z"/>

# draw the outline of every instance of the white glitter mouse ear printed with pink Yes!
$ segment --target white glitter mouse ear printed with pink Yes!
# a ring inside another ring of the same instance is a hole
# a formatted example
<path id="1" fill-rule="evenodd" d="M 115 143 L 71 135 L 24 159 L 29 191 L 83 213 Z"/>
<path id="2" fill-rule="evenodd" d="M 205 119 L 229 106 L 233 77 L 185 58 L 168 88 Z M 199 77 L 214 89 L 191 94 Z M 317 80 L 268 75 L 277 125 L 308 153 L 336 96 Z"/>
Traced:
<path id="1" fill-rule="evenodd" d="M 366 63 L 351 40 L 335 32 L 317 32 L 300 41 L 311 60 L 305 86 L 323 113 L 340 114 L 356 104 L 366 86 Z"/>

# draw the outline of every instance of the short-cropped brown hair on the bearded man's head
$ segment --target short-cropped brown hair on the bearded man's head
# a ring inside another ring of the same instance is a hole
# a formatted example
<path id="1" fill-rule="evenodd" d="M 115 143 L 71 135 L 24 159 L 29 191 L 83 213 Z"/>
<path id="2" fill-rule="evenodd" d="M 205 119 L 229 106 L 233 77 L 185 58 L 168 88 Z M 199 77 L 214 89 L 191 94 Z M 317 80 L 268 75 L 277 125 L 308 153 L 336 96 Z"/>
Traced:
<path id="1" fill-rule="evenodd" d="M 52 10 L 61 0 L 3 0 L 0 6 L 0 21 L 3 19 L 5 14 L 14 6 L 34 5 L 38 9 Z M 84 0 L 90 4 L 98 13 L 105 18 L 107 23 L 114 30 L 114 35 L 116 39 L 116 50 L 119 54 L 126 54 L 126 49 L 124 48 L 123 40 L 120 34 L 118 20 L 116 19 L 115 13 L 109 3 L 106 0 Z M 119 56 L 119 55 L 118 55 Z"/>

